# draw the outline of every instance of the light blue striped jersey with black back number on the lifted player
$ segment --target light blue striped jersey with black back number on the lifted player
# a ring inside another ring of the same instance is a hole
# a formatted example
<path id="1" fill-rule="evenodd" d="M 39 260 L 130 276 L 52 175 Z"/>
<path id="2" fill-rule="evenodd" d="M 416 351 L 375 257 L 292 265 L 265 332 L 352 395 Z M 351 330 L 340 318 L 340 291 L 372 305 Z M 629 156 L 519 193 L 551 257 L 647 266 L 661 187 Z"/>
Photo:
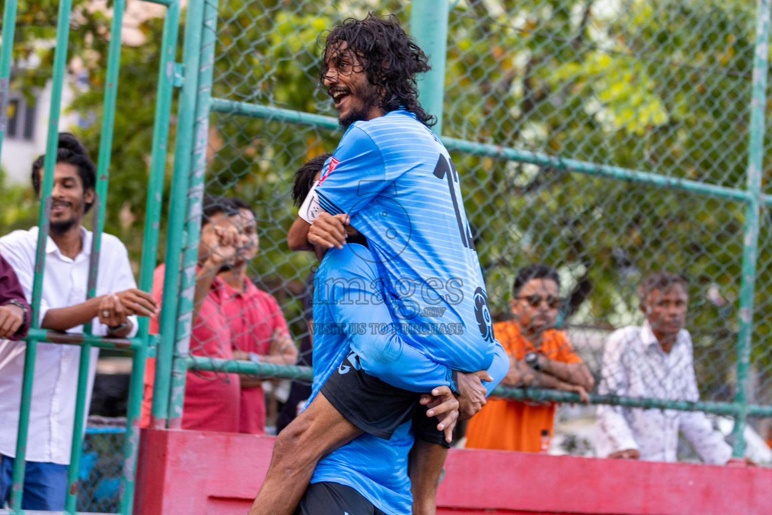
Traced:
<path id="1" fill-rule="evenodd" d="M 488 296 L 459 174 L 435 134 L 406 110 L 357 121 L 316 192 L 325 211 L 347 213 L 367 238 L 404 337 L 454 370 L 488 369 L 496 346 Z"/>

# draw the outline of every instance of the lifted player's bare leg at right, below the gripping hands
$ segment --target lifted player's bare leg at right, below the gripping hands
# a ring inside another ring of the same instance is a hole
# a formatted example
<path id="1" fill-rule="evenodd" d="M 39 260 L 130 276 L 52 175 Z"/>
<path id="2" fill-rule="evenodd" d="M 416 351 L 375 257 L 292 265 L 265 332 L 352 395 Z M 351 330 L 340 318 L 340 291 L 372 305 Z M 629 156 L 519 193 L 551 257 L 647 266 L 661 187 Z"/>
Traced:
<path id="1" fill-rule="evenodd" d="M 413 493 L 413 515 L 437 513 L 437 486 L 448 449 L 436 443 L 415 440 L 410 449 L 409 469 Z"/>

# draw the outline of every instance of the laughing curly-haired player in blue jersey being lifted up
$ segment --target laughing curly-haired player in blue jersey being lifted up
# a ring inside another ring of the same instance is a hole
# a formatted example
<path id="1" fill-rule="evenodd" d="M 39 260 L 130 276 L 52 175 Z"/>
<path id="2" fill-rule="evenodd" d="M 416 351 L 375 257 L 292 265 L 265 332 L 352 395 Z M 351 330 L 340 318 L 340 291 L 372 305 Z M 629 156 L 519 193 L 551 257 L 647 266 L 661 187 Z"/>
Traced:
<path id="1" fill-rule="evenodd" d="M 355 355 L 344 364 L 340 360 L 346 355 L 334 354 L 340 359 L 330 361 L 334 366 L 328 368 L 326 377 L 317 373 L 315 344 L 316 398 L 277 437 L 268 476 L 250 512 L 253 515 L 291 513 L 320 457 L 362 432 L 367 434 L 333 452 L 320 468 L 325 469 L 334 456 L 346 456 L 347 447 L 361 445 L 363 438 L 381 436 L 386 442 L 385 438 L 395 438 L 399 428 L 404 432 L 409 417 L 393 405 L 384 408 L 384 399 L 399 398 L 398 388 L 415 393 L 442 385 L 460 394 L 459 411 L 469 417 L 482 407 L 487 393 L 473 372 L 488 370 L 494 357 L 504 373 L 508 368 L 506 354 L 493 339 L 482 273 L 460 202 L 458 173 L 428 129 L 431 117 L 418 105 L 415 75 L 427 69 L 421 49 L 398 23 L 388 19 L 347 20 L 327 37 L 323 83 L 340 112 L 341 126 L 348 128 L 315 188 L 324 211 L 317 209 L 313 225 L 297 220 L 288 242 L 293 249 L 313 249 L 314 244 L 336 248 L 324 256 L 327 273 L 323 277 L 332 282 L 330 288 L 322 283 L 320 290 L 327 296 L 321 300 L 333 327 L 339 319 L 347 320 L 347 330 L 340 331 L 344 339 L 337 342 Z M 367 246 L 350 243 L 344 249 L 344 222 L 349 219 L 364 235 Z M 349 286 L 336 290 L 339 280 Z M 367 280 L 375 281 L 369 290 L 352 286 L 371 284 Z M 347 297 L 353 294 L 356 302 Z M 340 295 L 347 300 L 340 302 Z M 380 299 L 380 307 L 360 305 L 361 298 Z M 438 316 L 441 322 L 435 320 Z M 320 317 L 324 318 L 321 313 Z M 314 320 L 316 324 L 317 313 Z M 364 334 L 357 327 L 364 327 Z M 379 328 L 378 332 L 368 333 L 372 327 Z M 387 327 L 388 336 L 381 334 L 382 327 Z M 418 352 L 408 359 L 413 351 Z M 320 362 L 325 362 L 321 356 Z M 391 366 L 384 368 L 384 363 Z M 432 393 L 441 392 L 435 389 Z M 420 412 L 415 408 L 418 395 L 411 399 L 407 413 Z M 440 426 L 448 429 L 442 422 Z M 415 461 L 438 476 L 446 449 L 437 443 L 424 453 L 423 461 Z M 384 456 L 398 458 L 393 449 Z M 373 456 L 365 468 L 373 469 L 383 459 Z M 344 459 L 338 468 L 345 463 L 353 466 L 354 461 Z M 345 503 L 354 500 L 330 484 L 345 486 L 340 478 L 346 473 L 319 474 L 312 481 L 327 485 L 327 490 L 309 488 L 300 509 L 322 515 L 327 513 L 324 507 L 329 507 L 329 513 L 345 511 Z M 422 486 L 417 486 L 413 474 L 411 479 L 418 499 Z M 417 503 L 415 513 L 434 512 L 436 479 L 426 482 L 429 494 L 421 496 L 431 497 L 432 503 Z M 381 476 L 381 482 L 385 481 Z M 367 497 L 366 492 L 367 486 L 358 492 L 371 505 L 364 513 L 382 510 L 378 505 L 387 512 L 404 512 L 404 506 L 398 508 L 384 500 L 388 496 Z M 310 502 L 317 497 L 317 504 Z"/>

